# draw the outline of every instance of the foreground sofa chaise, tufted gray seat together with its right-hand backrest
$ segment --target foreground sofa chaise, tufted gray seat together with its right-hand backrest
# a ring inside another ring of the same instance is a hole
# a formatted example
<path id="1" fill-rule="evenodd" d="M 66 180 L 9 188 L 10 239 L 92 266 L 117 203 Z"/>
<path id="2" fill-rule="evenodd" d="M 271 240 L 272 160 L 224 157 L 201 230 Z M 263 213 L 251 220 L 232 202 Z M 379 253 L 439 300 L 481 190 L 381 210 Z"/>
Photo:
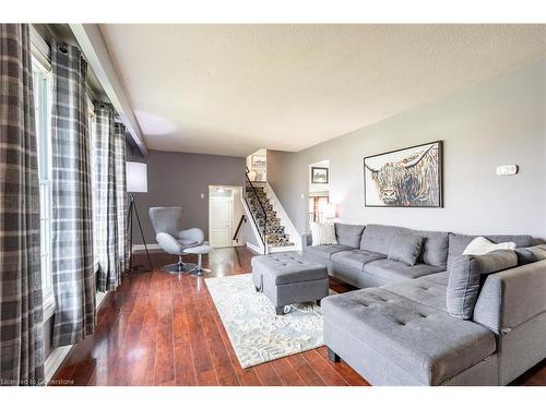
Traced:
<path id="1" fill-rule="evenodd" d="M 488 275 L 470 321 L 447 313 L 448 280 L 324 299 L 329 353 L 373 385 L 507 385 L 546 358 L 546 261 Z"/>

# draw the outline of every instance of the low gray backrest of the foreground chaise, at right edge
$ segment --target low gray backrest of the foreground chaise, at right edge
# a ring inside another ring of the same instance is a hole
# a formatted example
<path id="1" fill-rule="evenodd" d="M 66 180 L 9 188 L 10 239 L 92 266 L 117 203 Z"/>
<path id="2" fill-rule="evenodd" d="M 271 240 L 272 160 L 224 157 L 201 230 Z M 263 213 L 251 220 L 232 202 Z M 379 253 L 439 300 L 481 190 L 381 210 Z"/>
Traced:
<path id="1" fill-rule="evenodd" d="M 473 321 L 505 335 L 546 312 L 546 260 L 487 276 Z"/>

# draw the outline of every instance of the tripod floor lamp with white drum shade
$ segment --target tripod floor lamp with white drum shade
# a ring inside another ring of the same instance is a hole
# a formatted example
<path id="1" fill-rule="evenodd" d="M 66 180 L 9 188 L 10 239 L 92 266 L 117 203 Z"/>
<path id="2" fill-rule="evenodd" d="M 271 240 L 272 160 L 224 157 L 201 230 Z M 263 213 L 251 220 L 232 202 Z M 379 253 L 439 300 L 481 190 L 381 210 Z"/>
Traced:
<path id="1" fill-rule="evenodd" d="M 129 209 L 127 213 L 127 236 L 129 237 L 129 249 L 130 263 L 129 272 L 138 272 L 139 267 L 143 265 L 133 266 L 133 215 L 136 216 L 136 221 L 139 222 L 140 236 L 142 242 L 144 243 L 144 249 L 146 249 L 147 262 L 150 263 L 150 272 L 153 269 L 152 258 L 150 258 L 150 252 L 147 251 L 146 239 L 144 239 L 144 233 L 142 231 L 142 224 L 140 222 L 139 209 L 136 208 L 136 196 L 135 193 L 147 193 L 147 172 L 146 164 L 141 164 L 138 161 L 128 161 L 126 164 L 127 173 L 127 192 L 129 193 L 130 202 Z"/>

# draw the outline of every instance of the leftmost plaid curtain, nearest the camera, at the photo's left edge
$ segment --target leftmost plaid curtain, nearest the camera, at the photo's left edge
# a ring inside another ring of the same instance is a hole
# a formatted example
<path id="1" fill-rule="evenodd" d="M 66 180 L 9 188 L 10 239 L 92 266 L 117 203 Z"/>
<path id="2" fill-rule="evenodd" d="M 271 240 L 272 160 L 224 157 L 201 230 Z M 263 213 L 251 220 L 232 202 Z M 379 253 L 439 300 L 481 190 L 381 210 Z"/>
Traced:
<path id="1" fill-rule="evenodd" d="M 40 385 L 39 181 L 27 24 L 0 24 L 0 385 Z"/>

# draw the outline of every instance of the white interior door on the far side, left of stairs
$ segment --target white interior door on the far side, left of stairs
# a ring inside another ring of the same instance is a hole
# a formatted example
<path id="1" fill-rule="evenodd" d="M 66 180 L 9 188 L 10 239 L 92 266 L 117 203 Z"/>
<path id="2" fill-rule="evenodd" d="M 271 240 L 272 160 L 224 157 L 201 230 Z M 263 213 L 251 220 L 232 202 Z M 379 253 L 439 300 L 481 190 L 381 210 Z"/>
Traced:
<path id="1" fill-rule="evenodd" d="M 213 248 L 232 246 L 232 197 L 211 197 L 209 206 L 209 240 Z"/>

